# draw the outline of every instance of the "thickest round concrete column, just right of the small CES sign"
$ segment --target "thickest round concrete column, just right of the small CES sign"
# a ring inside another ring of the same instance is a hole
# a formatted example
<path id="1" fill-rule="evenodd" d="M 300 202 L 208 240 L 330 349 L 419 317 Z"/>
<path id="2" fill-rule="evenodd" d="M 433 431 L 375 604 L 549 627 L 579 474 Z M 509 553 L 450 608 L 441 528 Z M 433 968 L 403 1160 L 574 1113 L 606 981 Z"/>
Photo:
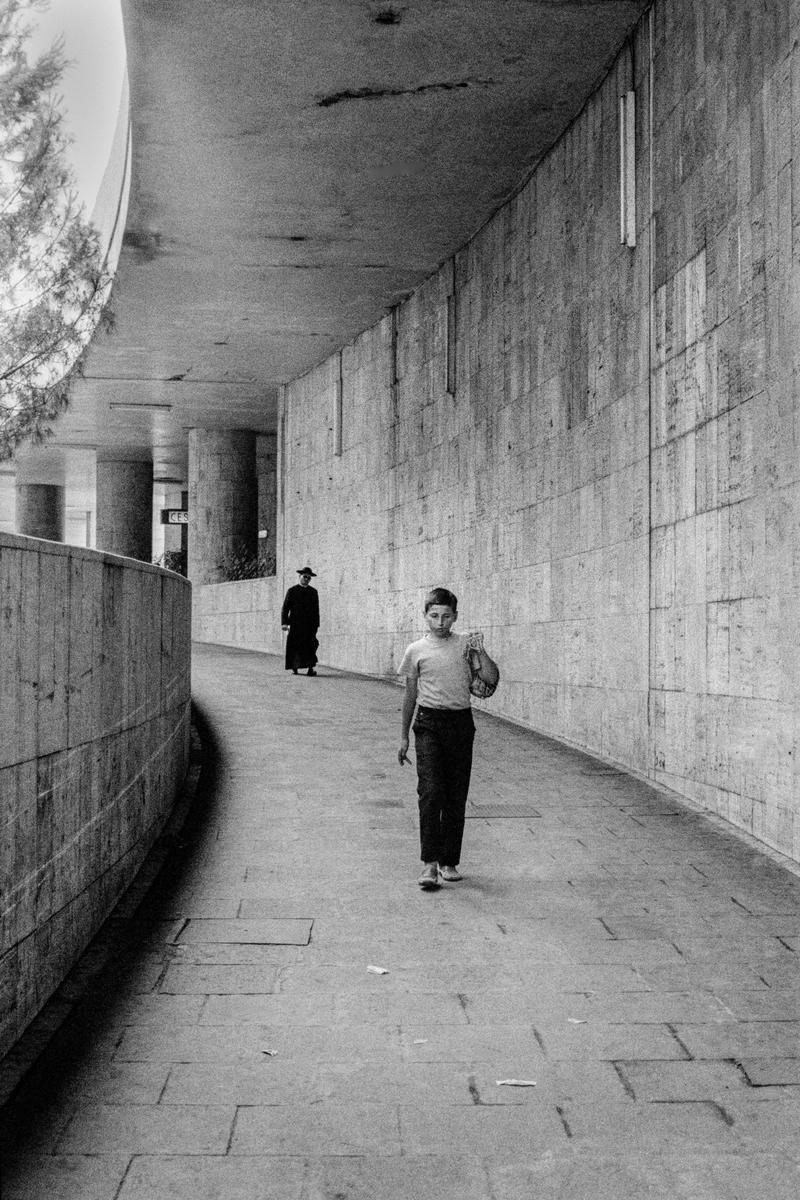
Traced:
<path id="1" fill-rule="evenodd" d="M 255 434 L 249 430 L 190 430 L 188 577 L 231 578 L 235 558 L 258 548 Z"/>

